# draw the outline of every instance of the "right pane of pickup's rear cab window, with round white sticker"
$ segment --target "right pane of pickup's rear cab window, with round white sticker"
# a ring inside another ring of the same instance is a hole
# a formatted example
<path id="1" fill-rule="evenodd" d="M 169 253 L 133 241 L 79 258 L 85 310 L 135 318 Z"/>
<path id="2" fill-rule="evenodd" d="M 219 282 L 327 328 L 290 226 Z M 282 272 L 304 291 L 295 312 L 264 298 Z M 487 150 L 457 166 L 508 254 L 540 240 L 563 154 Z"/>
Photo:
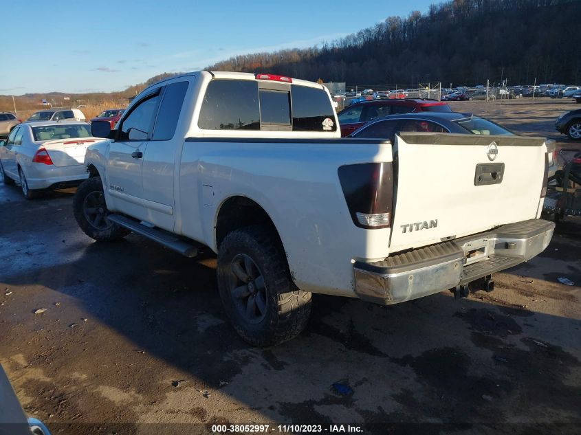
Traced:
<path id="1" fill-rule="evenodd" d="M 292 85 L 291 101 L 294 131 L 337 131 L 335 111 L 323 89 Z"/>

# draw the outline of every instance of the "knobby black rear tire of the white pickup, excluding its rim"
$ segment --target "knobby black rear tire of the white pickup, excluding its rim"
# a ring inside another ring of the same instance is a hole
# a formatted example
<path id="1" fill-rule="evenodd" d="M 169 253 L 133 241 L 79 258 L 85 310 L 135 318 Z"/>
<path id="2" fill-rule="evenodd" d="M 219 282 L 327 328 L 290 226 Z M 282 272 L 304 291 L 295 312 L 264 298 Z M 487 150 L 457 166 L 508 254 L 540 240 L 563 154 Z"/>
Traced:
<path id="1" fill-rule="evenodd" d="M 250 257 L 264 278 L 267 304 L 259 323 L 247 320 L 232 295 L 232 260 L 239 255 Z M 230 232 L 219 247 L 217 277 L 220 298 L 232 326 L 252 346 L 281 344 L 299 335 L 307 326 L 311 293 L 294 285 L 283 247 L 274 231 L 253 225 Z"/>

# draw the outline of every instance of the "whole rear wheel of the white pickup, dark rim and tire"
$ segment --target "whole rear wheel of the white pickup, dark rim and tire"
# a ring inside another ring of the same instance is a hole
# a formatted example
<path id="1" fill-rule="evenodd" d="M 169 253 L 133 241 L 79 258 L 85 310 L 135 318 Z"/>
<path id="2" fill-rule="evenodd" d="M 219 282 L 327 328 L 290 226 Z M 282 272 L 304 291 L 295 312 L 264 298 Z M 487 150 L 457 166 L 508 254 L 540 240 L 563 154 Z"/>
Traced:
<path id="1" fill-rule="evenodd" d="M 291 279 L 272 231 L 261 226 L 230 232 L 218 254 L 218 289 L 234 329 L 253 346 L 274 346 L 307 326 L 311 293 Z"/>

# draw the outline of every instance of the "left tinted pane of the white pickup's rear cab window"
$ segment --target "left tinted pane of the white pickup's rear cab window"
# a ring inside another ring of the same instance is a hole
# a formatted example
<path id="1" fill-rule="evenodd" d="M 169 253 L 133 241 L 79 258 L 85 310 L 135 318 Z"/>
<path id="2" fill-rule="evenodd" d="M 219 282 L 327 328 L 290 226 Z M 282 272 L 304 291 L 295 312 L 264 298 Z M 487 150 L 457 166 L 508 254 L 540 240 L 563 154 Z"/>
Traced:
<path id="1" fill-rule="evenodd" d="M 254 80 L 212 80 L 198 126 L 206 130 L 260 130 L 259 87 Z"/>

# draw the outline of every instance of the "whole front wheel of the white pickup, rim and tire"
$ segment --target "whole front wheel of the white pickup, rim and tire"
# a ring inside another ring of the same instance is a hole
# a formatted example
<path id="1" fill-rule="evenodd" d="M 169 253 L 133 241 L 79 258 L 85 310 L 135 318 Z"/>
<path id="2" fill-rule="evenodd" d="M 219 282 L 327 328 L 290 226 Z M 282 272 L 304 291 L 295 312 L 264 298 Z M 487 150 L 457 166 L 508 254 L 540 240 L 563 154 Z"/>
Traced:
<path id="1" fill-rule="evenodd" d="M 109 210 L 100 177 L 86 179 L 78 186 L 73 212 L 80 229 L 96 241 L 115 241 L 129 234 L 129 230 L 107 219 Z"/>

